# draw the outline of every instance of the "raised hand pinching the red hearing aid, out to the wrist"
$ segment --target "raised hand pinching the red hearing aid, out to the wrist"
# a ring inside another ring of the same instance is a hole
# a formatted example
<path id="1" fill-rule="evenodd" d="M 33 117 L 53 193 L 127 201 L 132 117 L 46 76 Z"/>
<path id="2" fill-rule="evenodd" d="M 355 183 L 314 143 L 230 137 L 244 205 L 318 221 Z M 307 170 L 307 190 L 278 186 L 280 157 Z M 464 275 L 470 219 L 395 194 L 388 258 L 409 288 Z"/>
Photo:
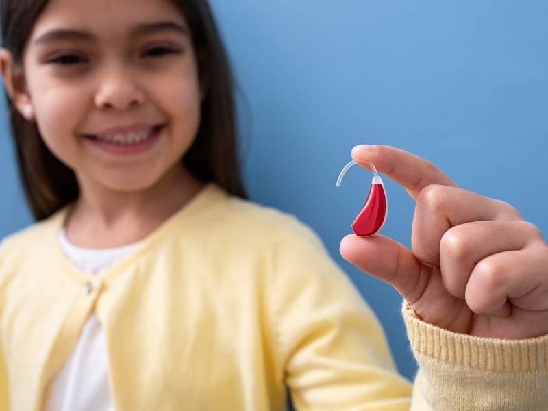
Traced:
<path id="1" fill-rule="evenodd" d="M 482 337 L 548 334 L 548 247 L 537 227 L 407 151 L 362 145 L 352 158 L 375 164 L 416 207 L 412 251 L 386 236 L 349 235 L 346 260 L 391 284 L 427 323 Z"/>

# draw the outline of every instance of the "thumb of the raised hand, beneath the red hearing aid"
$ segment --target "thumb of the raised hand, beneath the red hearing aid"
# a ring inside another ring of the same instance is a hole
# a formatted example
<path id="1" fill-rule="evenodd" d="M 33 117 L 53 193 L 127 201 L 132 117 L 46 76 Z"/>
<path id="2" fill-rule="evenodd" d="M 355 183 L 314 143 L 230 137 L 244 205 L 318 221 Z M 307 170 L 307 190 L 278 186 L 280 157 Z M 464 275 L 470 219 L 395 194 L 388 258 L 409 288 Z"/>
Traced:
<path id="1" fill-rule="evenodd" d="M 339 251 L 360 270 L 393 286 L 409 303 L 419 299 L 431 272 L 406 246 L 378 234 L 349 234 L 340 242 Z"/>

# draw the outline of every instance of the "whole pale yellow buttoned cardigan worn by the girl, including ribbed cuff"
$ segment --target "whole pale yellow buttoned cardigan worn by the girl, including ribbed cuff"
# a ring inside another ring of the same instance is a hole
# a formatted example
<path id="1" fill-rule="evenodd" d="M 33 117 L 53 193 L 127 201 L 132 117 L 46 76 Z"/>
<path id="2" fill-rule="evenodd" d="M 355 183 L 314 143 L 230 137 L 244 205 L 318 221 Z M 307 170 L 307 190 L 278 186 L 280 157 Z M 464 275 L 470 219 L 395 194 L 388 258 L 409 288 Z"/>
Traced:
<path id="1" fill-rule="evenodd" d="M 72 205 L 71 205 L 72 206 Z M 0 410 L 38 411 L 90 312 L 116 411 L 545 410 L 547 338 L 447 332 L 403 307 L 421 365 L 295 217 L 208 184 L 99 277 L 64 256 L 67 206 L 0 246 Z M 430 405 L 429 405 L 430 404 Z"/>

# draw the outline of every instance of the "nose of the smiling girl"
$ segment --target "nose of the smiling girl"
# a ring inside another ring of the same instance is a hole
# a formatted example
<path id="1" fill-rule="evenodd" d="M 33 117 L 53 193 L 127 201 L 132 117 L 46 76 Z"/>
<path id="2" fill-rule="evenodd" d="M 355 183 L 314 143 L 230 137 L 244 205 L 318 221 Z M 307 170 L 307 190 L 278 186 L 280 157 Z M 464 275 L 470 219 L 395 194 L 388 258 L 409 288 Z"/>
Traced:
<path id="1" fill-rule="evenodd" d="M 124 110 L 145 101 L 145 94 L 132 74 L 122 64 L 113 64 L 101 73 L 95 94 L 97 108 Z"/>

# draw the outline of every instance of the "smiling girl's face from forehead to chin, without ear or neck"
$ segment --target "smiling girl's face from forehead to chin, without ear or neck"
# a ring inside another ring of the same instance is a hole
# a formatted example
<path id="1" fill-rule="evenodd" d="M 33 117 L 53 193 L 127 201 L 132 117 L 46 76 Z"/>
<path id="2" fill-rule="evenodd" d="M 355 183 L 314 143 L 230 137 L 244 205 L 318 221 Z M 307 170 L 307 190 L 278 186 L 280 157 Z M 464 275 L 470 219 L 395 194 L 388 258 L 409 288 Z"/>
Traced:
<path id="1" fill-rule="evenodd" d="M 140 190 L 182 167 L 201 86 L 190 29 L 168 0 L 51 0 L 23 68 L 40 134 L 81 185 Z M 86 137 L 128 138 L 159 125 L 153 145 L 133 153 Z"/>

